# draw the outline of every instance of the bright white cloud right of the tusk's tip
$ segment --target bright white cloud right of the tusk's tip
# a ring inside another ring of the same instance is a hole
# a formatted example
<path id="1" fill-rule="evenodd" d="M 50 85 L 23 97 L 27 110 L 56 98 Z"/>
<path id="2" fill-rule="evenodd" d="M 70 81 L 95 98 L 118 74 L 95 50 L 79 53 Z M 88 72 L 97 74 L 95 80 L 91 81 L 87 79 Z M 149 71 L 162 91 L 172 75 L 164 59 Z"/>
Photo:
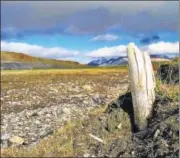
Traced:
<path id="1" fill-rule="evenodd" d="M 179 42 L 158 42 L 143 48 L 150 54 L 154 53 L 179 53 Z"/>

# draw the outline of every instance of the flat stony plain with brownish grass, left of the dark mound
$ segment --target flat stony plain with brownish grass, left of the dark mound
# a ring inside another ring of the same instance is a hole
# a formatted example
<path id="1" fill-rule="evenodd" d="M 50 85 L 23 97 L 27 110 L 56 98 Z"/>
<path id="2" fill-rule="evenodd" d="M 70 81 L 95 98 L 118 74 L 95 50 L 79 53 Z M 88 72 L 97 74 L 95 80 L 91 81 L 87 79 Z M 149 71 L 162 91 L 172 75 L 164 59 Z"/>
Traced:
<path id="1" fill-rule="evenodd" d="M 116 72 L 5 73 L 1 82 L 2 148 L 35 145 L 65 122 L 115 99 L 128 86 L 127 74 Z"/>

